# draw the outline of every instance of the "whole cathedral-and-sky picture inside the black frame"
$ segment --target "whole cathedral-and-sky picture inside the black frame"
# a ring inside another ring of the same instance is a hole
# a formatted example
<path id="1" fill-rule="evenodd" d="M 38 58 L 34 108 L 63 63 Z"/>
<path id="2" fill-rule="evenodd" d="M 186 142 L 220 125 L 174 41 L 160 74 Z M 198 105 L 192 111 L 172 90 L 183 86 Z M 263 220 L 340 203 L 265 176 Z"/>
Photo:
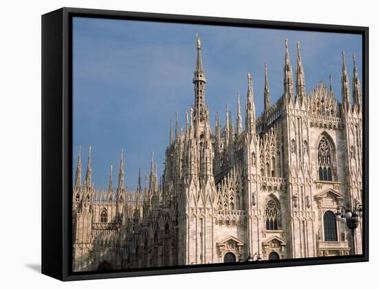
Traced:
<path id="1" fill-rule="evenodd" d="M 72 269 L 361 255 L 362 35 L 74 17 Z"/>

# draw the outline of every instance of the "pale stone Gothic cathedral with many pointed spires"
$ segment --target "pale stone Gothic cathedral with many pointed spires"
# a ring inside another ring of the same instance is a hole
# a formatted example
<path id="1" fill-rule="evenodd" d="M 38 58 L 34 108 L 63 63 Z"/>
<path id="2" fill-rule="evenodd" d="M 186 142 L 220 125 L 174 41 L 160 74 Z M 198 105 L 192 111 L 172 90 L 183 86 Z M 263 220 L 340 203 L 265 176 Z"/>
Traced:
<path id="1" fill-rule="evenodd" d="M 74 272 L 362 254 L 337 221 L 340 206 L 362 203 L 362 90 L 353 55 L 349 84 L 342 53 L 342 103 L 320 82 L 306 91 L 298 43 L 295 83 L 285 41 L 283 93 L 271 104 L 265 65 L 264 110 L 256 117 L 247 74 L 245 120 L 210 127 L 197 37 L 194 105 L 186 127 L 170 123 L 162 178 L 151 173 L 131 191 L 118 180 L 93 186 L 91 148 L 82 181 L 81 149 L 72 193 Z M 352 92 L 351 92 L 352 87 Z M 352 94 L 352 95 L 351 95 Z M 211 96 L 210 96 L 211 97 Z M 352 103 L 352 100 L 353 103 Z M 244 122 L 244 123 L 243 123 Z M 144 183 L 144 184 L 143 184 Z"/>

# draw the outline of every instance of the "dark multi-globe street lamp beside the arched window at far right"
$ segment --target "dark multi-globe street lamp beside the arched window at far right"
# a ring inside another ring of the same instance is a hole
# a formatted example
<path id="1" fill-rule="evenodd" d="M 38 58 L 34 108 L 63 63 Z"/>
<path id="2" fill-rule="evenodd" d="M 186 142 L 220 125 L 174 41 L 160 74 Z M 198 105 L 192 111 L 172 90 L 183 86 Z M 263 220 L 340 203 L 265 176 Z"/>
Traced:
<path id="1" fill-rule="evenodd" d="M 353 208 L 348 204 L 337 207 L 336 220 L 346 224 L 352 233 L 352 253 L 355 255 L 355 229 L 358 227 L 359 217 L 362 217 L 362 204 L 357 202 Z"/>

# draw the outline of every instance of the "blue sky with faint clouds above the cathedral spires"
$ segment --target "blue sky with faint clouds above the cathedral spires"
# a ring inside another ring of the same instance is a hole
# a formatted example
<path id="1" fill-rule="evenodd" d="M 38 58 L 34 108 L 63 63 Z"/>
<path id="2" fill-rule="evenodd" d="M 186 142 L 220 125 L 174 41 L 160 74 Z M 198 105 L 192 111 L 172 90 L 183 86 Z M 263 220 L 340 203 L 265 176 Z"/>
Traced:
<path id="1" fill-rule="evenodd" d="M 216 111 L 224 125 L 226 103 L 236 121 L 238 89 L 244 122 L 247 72 L 252 74 L 256 116 L 260 116 L 265 62 L 271 103 L 282 96 L 286 38 L 294 81 L 300 41 L 307 92 L 320 81 L 329 85 L 331 74 L 333 90 L 341 100 L 342 50 L 350 83 L 353 53 L 362 77 L 362 36 L 355 34 L 83 17 L 74 17 L 73 22 L 74 170 L 81 145 L 84 178 L 91 145 L 95 186 L 108 186 L 111 164 L 113 184 L 118 179 L 121 149 L 126 186 L 135 189 L 139 167 L 143 178 L 149 173 L 151 151 L 158 175 L 162 174 L 170 120 L 175 124 L 175 111 L 179 111 L 179 127 L 185 126 L 185 111 L 194 102 L 196 33 L 202 43 L 212 127 Z"/>

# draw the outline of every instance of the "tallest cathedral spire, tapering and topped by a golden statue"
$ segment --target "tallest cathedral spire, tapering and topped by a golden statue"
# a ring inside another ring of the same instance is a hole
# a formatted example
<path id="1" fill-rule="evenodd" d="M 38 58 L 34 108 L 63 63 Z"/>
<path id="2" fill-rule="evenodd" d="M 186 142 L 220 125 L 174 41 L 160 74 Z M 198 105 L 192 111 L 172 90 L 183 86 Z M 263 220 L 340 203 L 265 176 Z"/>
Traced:
<path id="1" fill-rule="evenodd" d="M 202 56 L 201 56 L 201 40 L 197 34 L 197 62 L 196 69 L 194 70 L 194 118 L 197 122 L 203 121 L 204 118 L 204 109 L 205 109 L 205 72 L 202 67 Z"/>

